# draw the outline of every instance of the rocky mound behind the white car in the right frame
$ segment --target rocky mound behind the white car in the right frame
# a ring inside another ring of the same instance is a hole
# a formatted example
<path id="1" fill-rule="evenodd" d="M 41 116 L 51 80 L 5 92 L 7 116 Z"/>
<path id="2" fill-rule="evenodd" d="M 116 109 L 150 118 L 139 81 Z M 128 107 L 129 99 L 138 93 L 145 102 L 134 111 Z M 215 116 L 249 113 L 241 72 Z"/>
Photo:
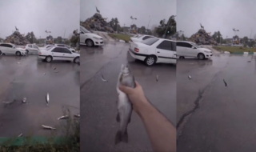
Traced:
<path id="1" fill-rule="evenodd" d="M 212 38 L 206 30 L 200 29 L 196 34 L 190 37 L 190 41 L 195 42 L 199 45 L 217 45 L 217 42 Z"/>

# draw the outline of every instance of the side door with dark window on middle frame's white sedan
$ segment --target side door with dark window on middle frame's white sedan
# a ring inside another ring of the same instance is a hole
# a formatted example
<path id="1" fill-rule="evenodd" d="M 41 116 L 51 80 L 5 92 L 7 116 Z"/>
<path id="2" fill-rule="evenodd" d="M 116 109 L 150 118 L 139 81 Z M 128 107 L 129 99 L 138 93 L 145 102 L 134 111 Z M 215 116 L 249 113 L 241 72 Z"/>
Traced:
<path id="1" fill-rule="evenodd" d="M 174 54 L 174 50 L 172 49 L 172 42 L 168 40 L 163 40 L 156 48 L 158 62 L 176 63 L 176 53 Z"/>

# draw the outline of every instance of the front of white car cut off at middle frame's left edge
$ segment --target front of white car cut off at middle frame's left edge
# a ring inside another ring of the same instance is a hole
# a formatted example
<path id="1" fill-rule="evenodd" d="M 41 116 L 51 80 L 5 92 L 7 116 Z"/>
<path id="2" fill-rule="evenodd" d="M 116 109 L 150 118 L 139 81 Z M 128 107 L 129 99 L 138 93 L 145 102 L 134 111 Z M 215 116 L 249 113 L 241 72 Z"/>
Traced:
<path id="1" fill-rule="evenodd" d="M 103 38 L 98 34 L 93 34 L 89 30 L 86 30 L 83 26 L 80 26 L 80 44 L 86 44 L 86 46 L 103 46 Z"/>

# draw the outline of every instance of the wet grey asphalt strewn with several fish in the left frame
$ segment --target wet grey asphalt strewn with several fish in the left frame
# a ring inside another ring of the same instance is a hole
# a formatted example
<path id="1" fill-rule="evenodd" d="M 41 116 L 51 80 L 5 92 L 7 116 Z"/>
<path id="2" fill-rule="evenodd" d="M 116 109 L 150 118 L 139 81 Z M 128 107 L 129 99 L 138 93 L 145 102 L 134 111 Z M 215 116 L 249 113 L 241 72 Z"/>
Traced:
<path id="1" fill-rule="evenodd" d="M 79 112 L 79 66 L 74 63 L 46 63 L 36 55 L 0 56 L 0 82 L 0 137 L 61 134 L 63 122 L 57 118 L 63 115 L 62 106 L 71 114 Z M 50 106 L 46 106 L 47 92 Z M 24 97 L 29 104 L 22 104 Z M 14 99 L 10 106 L 2 104 Z M 41 125 L 59 131 L 42 130 Z"/>

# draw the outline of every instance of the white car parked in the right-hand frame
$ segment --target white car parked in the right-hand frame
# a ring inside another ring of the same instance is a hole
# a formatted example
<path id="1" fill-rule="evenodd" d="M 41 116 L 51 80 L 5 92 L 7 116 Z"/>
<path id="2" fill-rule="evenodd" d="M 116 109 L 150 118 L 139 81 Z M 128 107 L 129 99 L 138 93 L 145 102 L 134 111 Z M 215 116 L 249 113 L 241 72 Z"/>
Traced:
<path id="1" fill-rule="evenodd" d="M 177 55 L 179 58 L 194 57 L 200 60 L 213 56 L 211 50 L 198 46 L 194 42 L 178 41 Z"/>

